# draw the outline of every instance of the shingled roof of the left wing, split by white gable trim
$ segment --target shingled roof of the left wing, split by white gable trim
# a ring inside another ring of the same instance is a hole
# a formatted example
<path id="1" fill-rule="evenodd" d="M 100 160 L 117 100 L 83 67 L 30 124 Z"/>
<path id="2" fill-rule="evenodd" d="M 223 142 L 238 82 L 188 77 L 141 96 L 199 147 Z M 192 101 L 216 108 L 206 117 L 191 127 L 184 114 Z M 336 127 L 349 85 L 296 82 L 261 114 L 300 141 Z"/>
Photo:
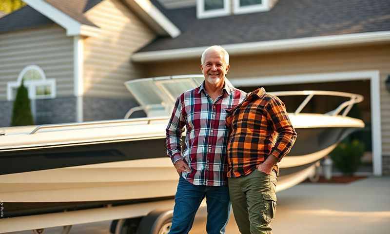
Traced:
<path id="1" fill-rule="evenodd" d="M 94 23 L 87 20 L 83 13 L 97 5 L 102 0 L 46 0 L 61 12 L 65 13 L 79 23 L 89 26 L 95 26 Z M 27 5 L 11 14 L 0 19 L 0 33 L 11 32 L 25 28 L 44 26 L 55 23 L 33 7 Z"/>

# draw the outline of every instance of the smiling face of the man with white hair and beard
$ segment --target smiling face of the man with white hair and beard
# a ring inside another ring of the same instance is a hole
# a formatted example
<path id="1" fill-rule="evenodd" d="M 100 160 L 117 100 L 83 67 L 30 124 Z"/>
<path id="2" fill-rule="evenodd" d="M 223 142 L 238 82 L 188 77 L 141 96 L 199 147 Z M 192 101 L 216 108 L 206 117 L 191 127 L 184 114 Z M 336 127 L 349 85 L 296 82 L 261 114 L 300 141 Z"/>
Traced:
<path id="1" fill-rule="evenodd" d="M 200 65 L 206 82 L 217 85 L 223 84 L 225 75 L 229 71 L 223 53 L 210 50 L 206 53 L 203 64 Z"/>

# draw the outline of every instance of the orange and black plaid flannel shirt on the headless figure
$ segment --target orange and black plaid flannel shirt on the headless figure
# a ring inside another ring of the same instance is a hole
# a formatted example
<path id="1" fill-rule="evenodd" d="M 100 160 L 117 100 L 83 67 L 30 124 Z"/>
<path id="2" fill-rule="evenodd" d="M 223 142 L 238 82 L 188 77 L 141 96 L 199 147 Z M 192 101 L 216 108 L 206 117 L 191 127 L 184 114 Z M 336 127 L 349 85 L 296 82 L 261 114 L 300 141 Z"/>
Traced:
<path id="1" fill-rule="evenodd" d="M 268 156 L 280 160 L 295 142 L 284 103 L 258 88 L 234 108 L 225 109 L 228 140 L 228 177 L 245 176 L 256 170 Z M 279 174 L 277 164 L 273 167 Z"/>

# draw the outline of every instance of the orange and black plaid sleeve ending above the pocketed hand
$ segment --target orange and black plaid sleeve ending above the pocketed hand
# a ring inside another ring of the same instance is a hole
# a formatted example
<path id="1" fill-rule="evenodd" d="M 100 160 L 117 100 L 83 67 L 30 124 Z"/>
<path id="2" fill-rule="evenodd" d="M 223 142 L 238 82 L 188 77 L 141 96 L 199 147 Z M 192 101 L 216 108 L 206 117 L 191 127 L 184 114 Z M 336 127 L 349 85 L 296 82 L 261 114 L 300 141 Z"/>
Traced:
<path id="1" fill-rule="evenodd" d="M 279 98 L 273 96 L 267 103 L 266 110 L 269 123 L 278 133 L 271 155 L 275 156 L 280 162 L 280 160 L 290 152 L 297 134 L 292 127 L 286 107 Z"/>

